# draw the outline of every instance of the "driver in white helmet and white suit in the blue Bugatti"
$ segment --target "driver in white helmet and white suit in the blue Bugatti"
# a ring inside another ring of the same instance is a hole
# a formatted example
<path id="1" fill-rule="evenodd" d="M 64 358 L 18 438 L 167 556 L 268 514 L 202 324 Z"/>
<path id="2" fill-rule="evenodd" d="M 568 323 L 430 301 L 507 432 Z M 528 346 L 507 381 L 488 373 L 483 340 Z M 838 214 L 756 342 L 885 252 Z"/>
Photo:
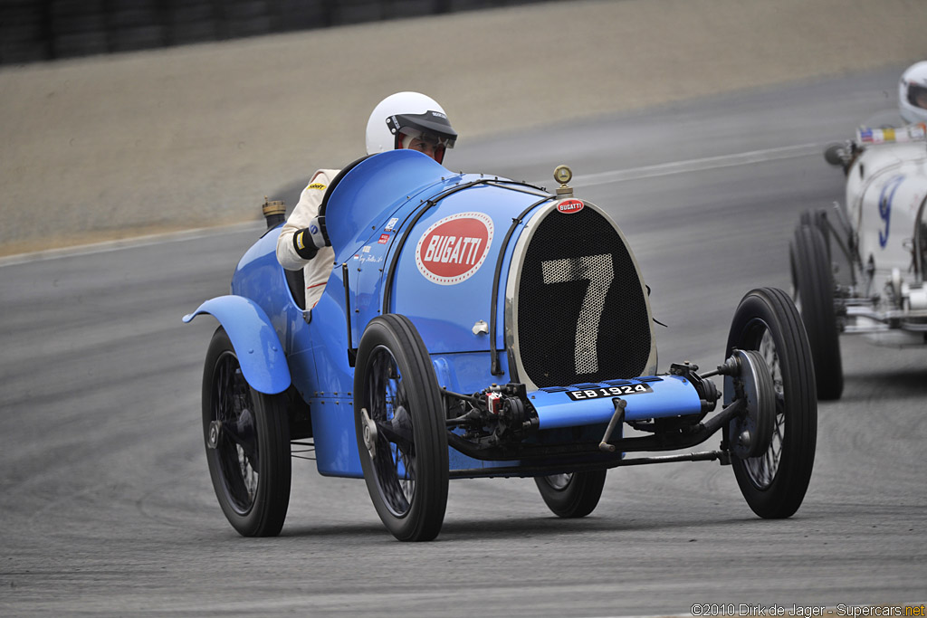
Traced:
<path id="1" fill-rule="evenodd" d="M 419 93 L 387 96 L 367 120 L 368 155 L 408 148 L 441 163 L 445 150 L 453 148 L 456 139 L 457 132 L 444 109 L 431 97 Z M 306 309 L 319 302 L 335 265 L 335 251 L 325 242 L 318 215 L 325 190 L 338 171 L 318 170 L 312 175 L 277 239 L 280 264 L 289 271 L 304 270 Z"/>

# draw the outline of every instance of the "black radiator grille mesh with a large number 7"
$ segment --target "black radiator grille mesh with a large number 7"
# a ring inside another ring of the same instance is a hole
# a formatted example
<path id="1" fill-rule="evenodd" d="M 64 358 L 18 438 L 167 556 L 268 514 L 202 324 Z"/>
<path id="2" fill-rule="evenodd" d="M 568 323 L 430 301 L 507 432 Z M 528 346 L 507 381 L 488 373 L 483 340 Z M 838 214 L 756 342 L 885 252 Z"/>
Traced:
<path id="1" fill-rule="evenodd" d="M 527 247 L 518 350 L 539 387 L 641 375 L 650 356 L 646 299 L 628 248 L 592 208 L 551 210 Z"/>

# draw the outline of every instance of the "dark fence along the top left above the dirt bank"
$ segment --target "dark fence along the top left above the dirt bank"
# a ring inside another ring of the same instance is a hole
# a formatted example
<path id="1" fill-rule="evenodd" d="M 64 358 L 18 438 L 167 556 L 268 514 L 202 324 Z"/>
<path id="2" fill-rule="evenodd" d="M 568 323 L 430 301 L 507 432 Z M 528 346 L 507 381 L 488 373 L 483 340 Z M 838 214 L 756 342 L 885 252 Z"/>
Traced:
<path id="1" fill-rule="evenodd" d="M 0 64 L 540 0 L 0 0 Z"/>

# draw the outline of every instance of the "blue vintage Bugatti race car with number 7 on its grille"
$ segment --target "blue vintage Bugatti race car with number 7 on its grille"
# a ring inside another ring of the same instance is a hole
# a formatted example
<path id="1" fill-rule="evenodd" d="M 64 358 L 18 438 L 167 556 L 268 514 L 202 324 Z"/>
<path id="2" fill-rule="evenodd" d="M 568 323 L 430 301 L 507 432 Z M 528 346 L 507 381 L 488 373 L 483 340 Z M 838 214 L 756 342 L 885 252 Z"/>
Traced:
<path id="1" fill-rule="evenodd" d="M 184 316 L 221 324 L 203 439 L 240 534 L 280 532 L 291 450 L 310 449 L 319 473 L 365 480 L 400 540 L 438 536 L 453 478 L 534 477 L 551 511 L 582 517 L 609 469 L 717 460 L 759 516 L 799 508 L 817 399 L 792 300 L 749 292 L 717 369 L 657 373 L 648 288 L 624 234 L 573 195 L 570 170 L 554 178 L 548 192 L 412 150 L 354 162 L 320 210 L 336 262 L 311 310 L 301 272 L 276 259 L 283 212 L 265 209 L 231 294 Z M 717 448 L 671 452 L 715 435 Z"/>

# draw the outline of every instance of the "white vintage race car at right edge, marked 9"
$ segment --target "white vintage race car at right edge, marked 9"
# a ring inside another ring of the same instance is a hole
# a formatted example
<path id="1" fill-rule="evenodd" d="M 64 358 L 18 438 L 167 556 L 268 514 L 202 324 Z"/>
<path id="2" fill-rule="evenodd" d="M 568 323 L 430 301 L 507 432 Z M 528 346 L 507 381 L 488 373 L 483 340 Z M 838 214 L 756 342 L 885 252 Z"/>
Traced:
<path id="1" fill-rule="evenodd" d="M 846 173 L 844 205 L 803 213 L 789 250 L 821 399 L 843 392 L 839 334 L 927 343 L 925 136 L 924 123 L 860 127 L 824 154 Z"/>

